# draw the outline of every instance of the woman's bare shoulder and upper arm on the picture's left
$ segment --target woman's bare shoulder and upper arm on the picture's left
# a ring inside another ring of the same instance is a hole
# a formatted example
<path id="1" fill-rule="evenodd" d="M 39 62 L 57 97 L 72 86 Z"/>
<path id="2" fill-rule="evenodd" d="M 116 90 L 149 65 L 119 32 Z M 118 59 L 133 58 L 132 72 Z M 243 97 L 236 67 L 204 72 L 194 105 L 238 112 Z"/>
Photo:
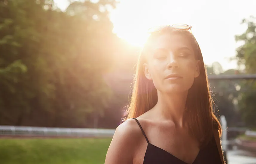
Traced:
<path id="1" fill-rule="evenodd" d="M 134 119 L 120 124 L 112 138 L 105 164 L 132 163 L 134 152 L 142 139 L 140 127 Z"/>

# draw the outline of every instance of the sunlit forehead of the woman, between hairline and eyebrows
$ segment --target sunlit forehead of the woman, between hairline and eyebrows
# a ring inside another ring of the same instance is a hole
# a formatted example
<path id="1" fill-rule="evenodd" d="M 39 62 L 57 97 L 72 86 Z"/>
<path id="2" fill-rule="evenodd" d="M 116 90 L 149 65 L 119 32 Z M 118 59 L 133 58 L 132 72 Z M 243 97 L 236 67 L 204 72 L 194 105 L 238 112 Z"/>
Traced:
<path id="1" fill-rule="evenodd" d="M 182 35 L 177 35 L 177 34 L 162 34 L 155 39 L 153 39 L 150 42 L 151 50 L 155 49 L 168 49 L 170 51 L 175 51 L 176 49 L 180 49 L 182 47 L 187 47 L 190 49 L 192 52 L 193 47 L 189 41 L 188 38 Z"/>

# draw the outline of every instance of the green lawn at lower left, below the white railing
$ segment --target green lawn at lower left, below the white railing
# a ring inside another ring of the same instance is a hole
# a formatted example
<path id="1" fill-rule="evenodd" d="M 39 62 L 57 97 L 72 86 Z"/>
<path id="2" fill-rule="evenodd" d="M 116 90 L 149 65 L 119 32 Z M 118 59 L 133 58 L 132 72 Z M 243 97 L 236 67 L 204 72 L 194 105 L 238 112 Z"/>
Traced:
<path id="1" fill-rule="evenodd" d="M 0 139 L 1 164 L 101 164 L 110 138 Z"/>

